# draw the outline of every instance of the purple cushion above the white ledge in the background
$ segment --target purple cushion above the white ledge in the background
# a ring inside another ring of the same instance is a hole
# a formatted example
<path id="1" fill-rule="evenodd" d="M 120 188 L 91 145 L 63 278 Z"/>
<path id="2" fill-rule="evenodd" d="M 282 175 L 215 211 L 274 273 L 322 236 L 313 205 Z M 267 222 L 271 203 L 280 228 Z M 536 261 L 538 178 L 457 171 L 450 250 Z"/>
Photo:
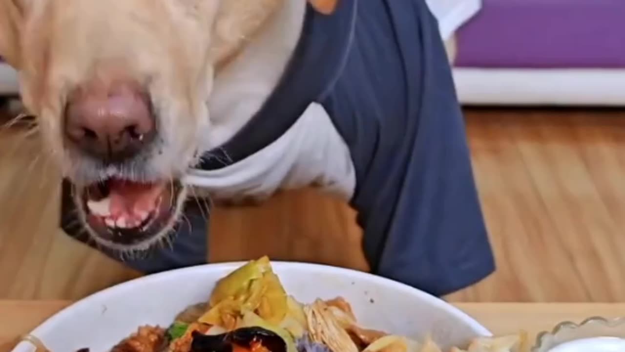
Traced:
<path id="1" fill-rule="evenodd" d="M 625 68 L 625 0 L 483 0 L 456 66 Z"/>

